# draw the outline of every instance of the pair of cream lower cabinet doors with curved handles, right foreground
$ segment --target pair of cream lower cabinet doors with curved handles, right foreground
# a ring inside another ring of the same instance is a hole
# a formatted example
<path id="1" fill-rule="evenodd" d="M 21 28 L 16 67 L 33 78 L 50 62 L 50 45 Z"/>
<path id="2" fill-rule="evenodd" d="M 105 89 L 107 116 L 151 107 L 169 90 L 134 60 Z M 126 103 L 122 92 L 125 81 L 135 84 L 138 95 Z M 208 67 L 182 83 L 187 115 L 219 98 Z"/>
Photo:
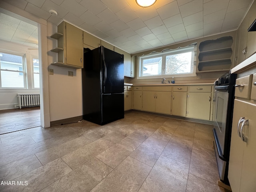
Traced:
<path id="1" fill-rule="evenodd" d="M 255 112 L 256 104 L 235 99 L 228 170 L 232 192 L 256 191 Z"/>

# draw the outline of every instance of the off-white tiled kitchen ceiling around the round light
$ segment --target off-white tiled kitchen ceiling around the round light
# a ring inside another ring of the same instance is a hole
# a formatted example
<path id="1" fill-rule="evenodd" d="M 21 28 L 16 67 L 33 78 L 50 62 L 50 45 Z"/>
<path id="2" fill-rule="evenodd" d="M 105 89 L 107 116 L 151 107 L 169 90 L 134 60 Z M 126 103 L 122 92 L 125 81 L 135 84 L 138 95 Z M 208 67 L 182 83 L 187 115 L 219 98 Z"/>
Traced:
<path id="1" fill-rule="evenodd" d="M 5 1 L 53 24 L 66 20 L 132 54 L 236 30 L 253 0 L 157 0 L 149 8 L 135 0 Z"/>

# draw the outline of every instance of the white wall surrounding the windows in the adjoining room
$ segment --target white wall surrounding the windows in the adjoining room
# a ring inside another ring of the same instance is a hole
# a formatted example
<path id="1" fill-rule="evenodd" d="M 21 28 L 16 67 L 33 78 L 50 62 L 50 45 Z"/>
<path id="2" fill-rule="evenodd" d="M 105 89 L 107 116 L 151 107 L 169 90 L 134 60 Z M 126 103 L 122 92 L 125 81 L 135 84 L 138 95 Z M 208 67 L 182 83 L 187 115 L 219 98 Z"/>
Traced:
<path id="1" fill-rule="evenodd" d="M 31 56 L 38 57 L 38 50 L 28 50 L 27 46 L 22 46 L 20 44 L 6 42 L 0 40 L 0 50 L 12 52 L 12 53 L 19 53 L 19 54 L 26 54 L 26 62 L 27 62 L 27 71 L 28 71 L 28 89 L 0 89 L 0 110 L 4 109 L 14 109 L 15 105 L 18 104 L 18 93 L 39 93 L 39 89 L 32 89 L 32 81 L 31 81 Z"/>

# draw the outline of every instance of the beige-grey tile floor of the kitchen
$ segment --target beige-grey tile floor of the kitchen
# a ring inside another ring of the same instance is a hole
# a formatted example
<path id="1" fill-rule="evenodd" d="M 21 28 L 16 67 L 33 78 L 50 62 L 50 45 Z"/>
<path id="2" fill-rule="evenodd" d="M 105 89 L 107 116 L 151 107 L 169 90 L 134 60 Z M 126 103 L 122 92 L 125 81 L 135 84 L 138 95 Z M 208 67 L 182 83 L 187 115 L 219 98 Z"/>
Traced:
<path id="1" fill-rule="evenodd" d="M 209 125 L 137 112 L 2 134 L 0 191 L 224 192 L 212 141 Z"/>

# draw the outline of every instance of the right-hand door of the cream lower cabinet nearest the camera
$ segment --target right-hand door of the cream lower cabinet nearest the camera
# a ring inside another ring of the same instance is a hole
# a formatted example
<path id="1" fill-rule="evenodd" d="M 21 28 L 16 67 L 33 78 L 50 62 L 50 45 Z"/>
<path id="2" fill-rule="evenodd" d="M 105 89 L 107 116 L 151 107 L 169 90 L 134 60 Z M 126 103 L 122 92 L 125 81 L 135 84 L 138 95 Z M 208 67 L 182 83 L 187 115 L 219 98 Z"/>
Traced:
<path id="1" fill-rule="evenodd" d="M 241 174 L 240 192 L 255 192 L 256 190 L 256 104 L 246 103 L 248 126 L 244 126 L 243 133 L 247 137 L 244 144 L 243 166 Z M 241 111 L 241 108 L 239 108 Z"/>

